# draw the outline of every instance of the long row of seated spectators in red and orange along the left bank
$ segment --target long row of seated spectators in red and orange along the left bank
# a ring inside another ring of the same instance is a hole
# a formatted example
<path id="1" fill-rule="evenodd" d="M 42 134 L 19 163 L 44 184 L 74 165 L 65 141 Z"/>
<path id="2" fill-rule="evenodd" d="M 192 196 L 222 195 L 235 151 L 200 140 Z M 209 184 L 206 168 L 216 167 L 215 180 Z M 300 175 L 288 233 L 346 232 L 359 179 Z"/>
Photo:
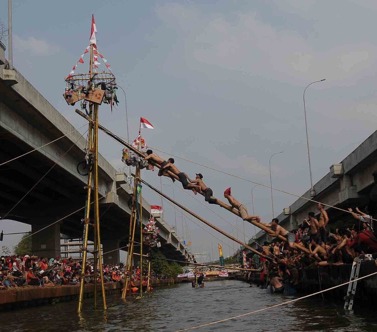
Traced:
<path id="1" fill-rule="evenodd" d="M 100 282 L 99 269 L 97 269 Z M 152 269 L 151 279 L 164 279 Z M 10 289 L 23 286 L 74 286 L 80 283 L 82 274 L 81 260 L 70 258 L 36 257 L 30 255 L 10 255 L 0 257 L 0 289 Z M 123 263 L 103 265 L 104 282 L 123 283 L 125 268 Z M 95 273 L 93 263 L 87 261 L 85 283 L 94 283 Z M 132 279 L 140 281 L 140 269 L 135 267 Z M 143 285 L 146 284 L 147 271 L 143 273 Z"/>

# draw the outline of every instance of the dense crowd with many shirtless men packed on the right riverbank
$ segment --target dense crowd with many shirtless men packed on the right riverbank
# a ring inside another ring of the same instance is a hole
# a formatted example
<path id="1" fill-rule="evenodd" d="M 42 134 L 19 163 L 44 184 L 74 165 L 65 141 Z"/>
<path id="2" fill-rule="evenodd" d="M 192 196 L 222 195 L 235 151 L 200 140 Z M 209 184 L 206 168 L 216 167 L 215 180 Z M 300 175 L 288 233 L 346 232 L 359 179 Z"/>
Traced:
<path id="1" fill-rule="evenodd" d="M 261 286 L 271 285 L 275 292 L 283 292 L 299 284 L 300 270 L 304 268 L 348 264 L 355 257 L 377 253 L 377 238 L 370 215 L 357 208 L 357 213 L 349 209 L 357 219 L 353 227 L 332 229 L 323 207 L 319 204 L 318 208 L 321 211 L 319 221 L 314 218 L 314 212 L 310 212 L 301 227 L 288 232 L 294 236 L 291 237 L 294 247 L 275 239 L 271 243 L 264 242 L 257 249 L 269 258 L 254 254 L 249 260 L 250 268 L 261 270 Z M 308 253 L 301 251 L 300 247 L 306 248 Z"/>

